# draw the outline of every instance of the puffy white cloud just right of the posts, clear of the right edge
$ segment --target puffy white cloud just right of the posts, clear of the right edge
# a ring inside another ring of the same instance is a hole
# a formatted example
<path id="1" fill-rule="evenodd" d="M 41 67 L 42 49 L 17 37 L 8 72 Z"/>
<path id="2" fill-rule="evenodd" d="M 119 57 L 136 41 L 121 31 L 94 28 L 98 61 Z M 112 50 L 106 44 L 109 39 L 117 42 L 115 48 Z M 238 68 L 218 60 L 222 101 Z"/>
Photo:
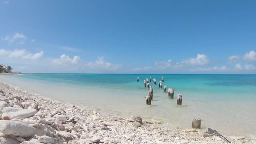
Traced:
<path id="1" fill-rule="evenodd" d="M 204 54 L 197 54 L 196 58 L 189 58 L 188 60 L 184 60 L 184 62 L 189 65 L 204 65 L 207 64 L 208 61 L 208 57 Z"/>

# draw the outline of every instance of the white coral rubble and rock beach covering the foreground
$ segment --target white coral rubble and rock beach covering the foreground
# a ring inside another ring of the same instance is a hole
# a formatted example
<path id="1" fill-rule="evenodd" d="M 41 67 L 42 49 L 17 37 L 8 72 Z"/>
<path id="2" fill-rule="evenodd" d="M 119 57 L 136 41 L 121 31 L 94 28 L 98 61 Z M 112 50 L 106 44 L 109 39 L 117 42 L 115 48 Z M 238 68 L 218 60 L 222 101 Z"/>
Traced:
<path id="1" fill-rule="evenodd" d="M 157 123 L 67 106 L 0 82 L 0 144 L 228 143 L 196 129 L 171 131 Z M 256 144 L 255 138 L 227 138 L 232 144 Z"/>

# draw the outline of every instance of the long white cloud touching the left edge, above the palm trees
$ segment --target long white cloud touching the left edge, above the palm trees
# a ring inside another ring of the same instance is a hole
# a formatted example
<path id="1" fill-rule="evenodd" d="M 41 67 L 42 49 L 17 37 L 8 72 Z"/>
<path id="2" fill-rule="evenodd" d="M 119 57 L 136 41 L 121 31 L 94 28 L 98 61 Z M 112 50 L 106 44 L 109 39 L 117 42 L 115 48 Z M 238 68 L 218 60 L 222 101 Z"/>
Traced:
<path id="1" fill-rule="evenodd" d="M 43 51 L 31 54 L 30 52 L 26 52 L 25 49 L 15 49 L 13 51 L 7 51 L 4 49 L 0 49 L 0 55 L 6 55 L 10 58 L 24 58 L 24 59 L 32 59 L 32 60 L 37 60 L 38 58 L 42 57 L 44 54 Z"/>

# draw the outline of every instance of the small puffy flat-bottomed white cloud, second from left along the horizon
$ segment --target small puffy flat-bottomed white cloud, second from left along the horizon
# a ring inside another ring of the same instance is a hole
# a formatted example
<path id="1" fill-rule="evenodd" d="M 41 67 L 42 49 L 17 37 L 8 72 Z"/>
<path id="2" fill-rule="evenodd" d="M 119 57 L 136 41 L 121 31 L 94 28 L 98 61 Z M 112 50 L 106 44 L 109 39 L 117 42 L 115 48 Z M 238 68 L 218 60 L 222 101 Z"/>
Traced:
<path id="1" fill-rule="evenodd" d="M 70 64 L 77 64 L 80 61 L 79 56 L 74 56 L 74 58 L 70 58 L 66 54 L 62 54 L 60 58 L 52 60 L 53 64 L 65 64 L 65 65 L 70 65 Z"/>

